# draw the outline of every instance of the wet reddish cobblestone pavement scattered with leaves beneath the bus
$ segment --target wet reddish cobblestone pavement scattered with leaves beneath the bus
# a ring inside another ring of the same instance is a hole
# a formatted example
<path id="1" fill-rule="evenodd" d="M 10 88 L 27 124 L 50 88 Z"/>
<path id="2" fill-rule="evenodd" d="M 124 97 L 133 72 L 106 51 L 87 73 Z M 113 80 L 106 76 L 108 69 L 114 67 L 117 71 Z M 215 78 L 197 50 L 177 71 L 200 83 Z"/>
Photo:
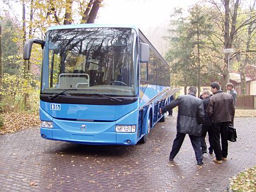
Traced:
<path id="1" fill-rule="evenodd" d="M 1 191 L 224 191 L 229 178 L 256 165 L 256 118 L 235 118 L 227 162 L 204 155 L 197 166 L 188 136 L 174 163 L 176 117 L 158 123 L 136 146 L 87 146 L 43 140 L 38 128 L 0 136 Z"/>

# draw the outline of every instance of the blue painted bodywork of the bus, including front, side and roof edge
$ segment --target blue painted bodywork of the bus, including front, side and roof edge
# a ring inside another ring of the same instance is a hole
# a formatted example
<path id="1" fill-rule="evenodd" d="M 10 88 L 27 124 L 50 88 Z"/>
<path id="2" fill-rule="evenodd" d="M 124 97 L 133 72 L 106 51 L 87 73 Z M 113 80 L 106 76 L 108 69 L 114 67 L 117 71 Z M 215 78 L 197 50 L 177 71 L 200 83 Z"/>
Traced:
<path id="1" fill-rule="evenodd" d="M 138 28 L 132 25 L 78 24 L 53 26 L 48 30 L 84 27 L 127 27 L 135 29 L 138 35 Z M 47 57 L 48 55 L 44 58 Z M 44 59 L 43 63 L 48 61 Z M 48 80 L 48 67 L 44 67 L 44 70 L 46 70 L 43 73 L 44 79 Z M 166 99 L 159 102 L 165 96 L 163 91 L 165 88 L 157 85 L 137 88 L 140 91 L 140 99 L 128 105 L 60 104 L 58 110 L 55 108 L 52 110 L 51 104 L 54 102 L 40 101 L 40 119 L 53 122 L 52 129 L 41 127 L 41 136 L 49 140 L 84 144 L 137 144 L 140 138 L 147 134 L 148 119 L 151 118 L 152 128 L 161 118 L 158 108 L 166 103 Z M 141 119 L 143 119 L 142 124 Z M 137 131 L 135 133 L 116 132 L 117 124 L 136 125 Z M 85 131 L 80 129 L 82 125 L 86 126 Z"/>

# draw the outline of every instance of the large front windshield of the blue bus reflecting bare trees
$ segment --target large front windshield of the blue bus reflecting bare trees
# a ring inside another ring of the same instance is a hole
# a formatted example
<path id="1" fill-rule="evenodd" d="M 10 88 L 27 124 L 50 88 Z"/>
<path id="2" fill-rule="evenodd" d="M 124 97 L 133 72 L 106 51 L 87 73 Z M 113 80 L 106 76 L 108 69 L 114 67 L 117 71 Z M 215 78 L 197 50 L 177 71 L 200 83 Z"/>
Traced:
<path id="1" fill-rule="evenodd" d="M 49 30 L 41 94 L 135 96 L 136 32 L 130 28 Z M 88 91 L 87 91 L 88 89 Z"/>

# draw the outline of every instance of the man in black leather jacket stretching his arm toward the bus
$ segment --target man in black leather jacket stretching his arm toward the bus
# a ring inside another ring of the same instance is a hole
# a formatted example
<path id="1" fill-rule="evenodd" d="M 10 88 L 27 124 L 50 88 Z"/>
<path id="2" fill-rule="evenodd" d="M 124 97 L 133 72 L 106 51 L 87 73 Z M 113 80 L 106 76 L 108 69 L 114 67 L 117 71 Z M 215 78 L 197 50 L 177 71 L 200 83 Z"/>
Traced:
<path id="1" fill-rule="evenodd" d="M 196 154 L 197 165 L 203 165 L 200 137 L 202 134 L 202 123 L 204 123 L 204 106 L 202 99 L 196 98 L 196 87 L 190 87 L 188 94 L 179 96 L 177 99 L 165 105 L 159 112 L 165 113 L 169 108 L 179 106 L 177 118 L 177 135 L 172 144 L 169 160 L 173 161 L 179 152 L 183 140 L 188 134 Z"/>

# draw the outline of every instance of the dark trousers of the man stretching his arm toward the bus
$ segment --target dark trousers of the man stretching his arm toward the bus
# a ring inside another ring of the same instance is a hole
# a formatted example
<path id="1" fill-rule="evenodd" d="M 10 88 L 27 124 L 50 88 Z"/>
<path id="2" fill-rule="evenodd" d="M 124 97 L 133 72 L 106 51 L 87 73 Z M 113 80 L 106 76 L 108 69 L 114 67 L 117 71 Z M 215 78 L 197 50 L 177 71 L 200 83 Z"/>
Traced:
<path id="1" fill-rule="evenodd" d="M 174 158 L 177 153 L 180 151 L 180 148 L 182 146 L 182 143 L 184 141 L 186 134 L 177 132 L 176 138 L 173 141 L 172 144 L 172 150 L 170 153 L 169 158 Z M 201 142 L 200 142 L 200 136 L 194 136 L 194 135 L 188 135 L 190 137 L 191 144 L 194 149 L 194 153 L 196 154 L 196 160 L 197 163 L 202 162 L 202 151 L 201 151 Z"/>

